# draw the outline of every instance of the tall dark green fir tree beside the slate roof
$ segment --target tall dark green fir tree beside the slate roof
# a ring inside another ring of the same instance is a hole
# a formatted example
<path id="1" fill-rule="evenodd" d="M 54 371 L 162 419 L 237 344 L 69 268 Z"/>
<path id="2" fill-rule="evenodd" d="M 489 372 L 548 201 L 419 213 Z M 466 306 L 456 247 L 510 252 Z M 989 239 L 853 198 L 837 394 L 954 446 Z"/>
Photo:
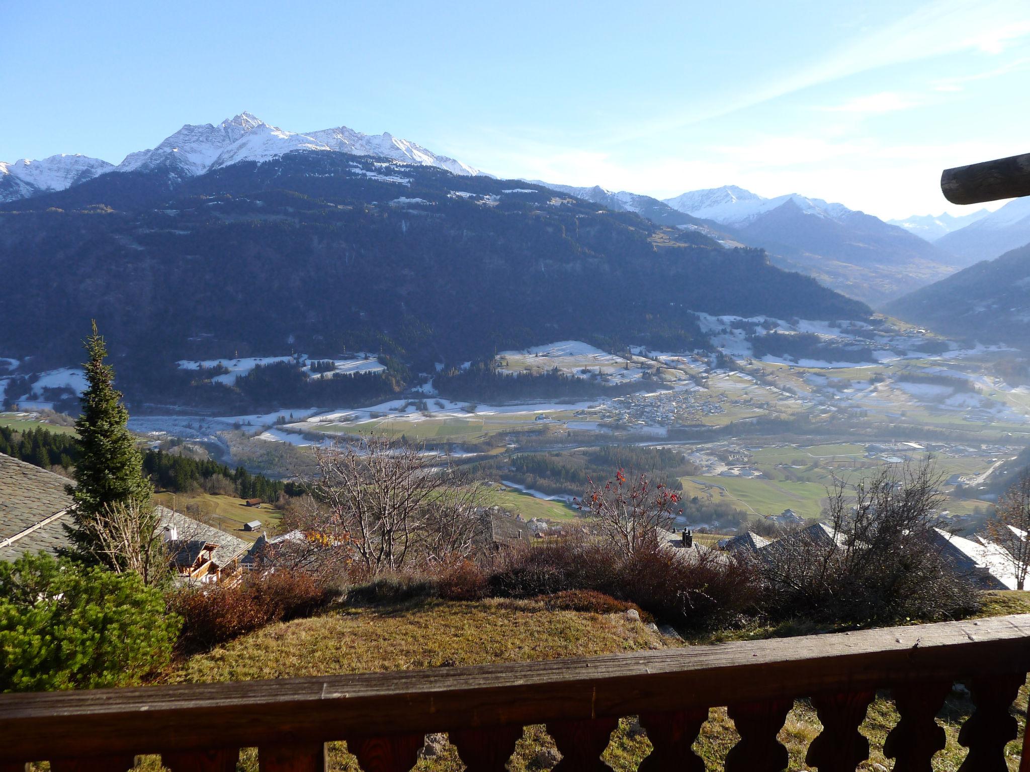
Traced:
<path id="1" fill-rule="evenodd" d="M 143 473 L 143 457 L 126 428 L 129 411 L 122 392 L 114 388 L 114 367 L 105 363 L 107 345 L 93 322 L 92 335 L 82 342 L 89 355 L 84 363 L 89 386 L 82 393 L 82 412 L 75 421 L 79 457 L 75 482 L 68 493 L 75 501 L 72 524 L 65 528 L 74 545 L 71 555 L 88 563 L 110 562 L 101 550 L 95 524 L 97 515 L 115 504 L 148 505 L 153 493 Z"/>

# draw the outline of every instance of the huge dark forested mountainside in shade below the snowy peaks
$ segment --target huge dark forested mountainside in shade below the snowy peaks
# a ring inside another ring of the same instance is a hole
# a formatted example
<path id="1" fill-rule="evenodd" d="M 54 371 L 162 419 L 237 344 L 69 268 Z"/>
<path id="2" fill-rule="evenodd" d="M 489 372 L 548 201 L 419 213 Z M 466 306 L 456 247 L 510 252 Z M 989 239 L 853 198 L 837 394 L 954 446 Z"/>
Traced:
<path id="1" fill-rule="evenodd" d="M 130 385 L 182 358 L 364 349 L 427 371 L 554 340 L 703 347 L 691 312 L 854 319 L 862 304 L 539 185 L 290 153 L 185 182 L 104 175 L 0 212 L 0 355 L 78 359 L 96 318 Z M 142 387 L 142 386 L 140 386 Z"/>

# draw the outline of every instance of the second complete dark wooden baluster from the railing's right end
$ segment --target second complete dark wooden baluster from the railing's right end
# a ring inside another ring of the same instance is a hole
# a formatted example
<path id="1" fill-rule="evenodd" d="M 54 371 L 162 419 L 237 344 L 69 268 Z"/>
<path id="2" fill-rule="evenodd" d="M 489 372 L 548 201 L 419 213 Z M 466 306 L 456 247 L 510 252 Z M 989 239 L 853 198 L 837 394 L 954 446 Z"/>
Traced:
<path id="1" fill-rule="evenodd" d="M 947 744 L 945 728 L 934 720 L 951 691 L 951 681 L 912 683 L 892 690 L 901 716 L 884 741 L 884 756 L 896 759 L 894 772 L 931 772 L 931 759 Z"/>

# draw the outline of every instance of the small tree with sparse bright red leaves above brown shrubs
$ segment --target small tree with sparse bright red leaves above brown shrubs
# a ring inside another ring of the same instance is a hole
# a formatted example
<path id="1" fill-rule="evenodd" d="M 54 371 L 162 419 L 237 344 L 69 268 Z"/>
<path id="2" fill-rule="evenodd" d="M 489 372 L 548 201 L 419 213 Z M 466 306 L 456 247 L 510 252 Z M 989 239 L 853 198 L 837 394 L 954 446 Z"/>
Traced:
<path id="1" fill-rule="evenodd" d="M 646 473 L 631 472 L 628 480 L 619 469 L 615 479 L 603 487 L 591 481 L 583 499 L 574 499 L 577 507 L 625 558 L 657 546 L 658 531 L 672 526 L 680 500 L 678 493 L 655 483 Z"/>

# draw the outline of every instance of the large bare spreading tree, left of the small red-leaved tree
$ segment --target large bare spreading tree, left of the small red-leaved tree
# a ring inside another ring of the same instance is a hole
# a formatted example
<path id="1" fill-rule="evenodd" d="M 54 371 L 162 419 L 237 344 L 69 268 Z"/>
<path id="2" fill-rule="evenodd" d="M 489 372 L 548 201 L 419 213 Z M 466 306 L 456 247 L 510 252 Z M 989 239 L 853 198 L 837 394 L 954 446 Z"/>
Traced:
<path id="1" fill-rule="evenodd" d="M 316 449 L 315 460 L 298 526 L 345 545 L 368 575 L 472 554 L 484 489 L 446 461 L 378 436 Z"/>

